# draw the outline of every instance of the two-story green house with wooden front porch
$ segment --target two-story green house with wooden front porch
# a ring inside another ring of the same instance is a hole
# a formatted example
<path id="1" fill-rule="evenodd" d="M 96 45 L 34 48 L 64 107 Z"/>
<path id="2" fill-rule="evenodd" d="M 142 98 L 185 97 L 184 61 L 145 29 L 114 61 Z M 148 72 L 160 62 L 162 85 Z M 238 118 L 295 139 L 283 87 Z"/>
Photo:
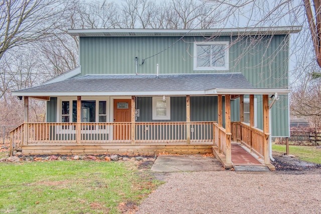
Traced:
<path id="1" fill-rule="evenodd" d="M 231 142 L 269 164 L 288 137 L 289 39 L 300 27 L 81 29 L 80 66 L 24 98 L 16 148 L 35 153 L 209 153 L 231 164 Z M 47 122 L 28 122 L 28 100 Z"/>

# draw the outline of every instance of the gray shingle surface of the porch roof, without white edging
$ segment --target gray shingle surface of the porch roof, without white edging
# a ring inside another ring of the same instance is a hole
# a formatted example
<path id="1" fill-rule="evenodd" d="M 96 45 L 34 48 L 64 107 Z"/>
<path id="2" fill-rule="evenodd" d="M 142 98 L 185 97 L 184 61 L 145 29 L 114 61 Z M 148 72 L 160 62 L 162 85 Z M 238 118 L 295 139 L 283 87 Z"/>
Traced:
<path id="1" fill-rule="evenodd" d="M 20 92 L 199 91 L 253 88 L 241 73 L 190 75 L 86 75 Z"/>

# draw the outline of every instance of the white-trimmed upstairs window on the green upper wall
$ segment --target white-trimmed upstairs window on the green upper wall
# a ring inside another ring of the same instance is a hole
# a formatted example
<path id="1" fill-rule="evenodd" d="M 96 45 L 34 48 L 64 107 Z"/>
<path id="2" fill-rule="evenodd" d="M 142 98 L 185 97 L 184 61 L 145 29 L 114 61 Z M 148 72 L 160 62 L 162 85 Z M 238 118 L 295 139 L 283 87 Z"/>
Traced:
<path id="1" fill-rule="evenodd" d="M 195 42 L 194 70 L 228 70 L 229 42 Z"/>

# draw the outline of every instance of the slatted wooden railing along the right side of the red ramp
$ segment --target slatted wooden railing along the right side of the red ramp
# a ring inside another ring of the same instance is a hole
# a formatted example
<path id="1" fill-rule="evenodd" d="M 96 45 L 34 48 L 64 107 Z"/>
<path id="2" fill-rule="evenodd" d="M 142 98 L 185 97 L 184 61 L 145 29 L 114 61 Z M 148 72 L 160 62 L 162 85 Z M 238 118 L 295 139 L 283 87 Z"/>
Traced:
<path id="1" fill-rule="evenodd" d="M 256 153 L 259 157 L 263 158 L 263 143 L 264 132 L 256 127 L 250 127 L 249 124 L 243 122 L 232 122 L 232 136 L 234 141 L 240 141 Z M 236 131 L 236 133 L 235 133 Z M 234 139 L 234 137 L 236 139 Z"/>

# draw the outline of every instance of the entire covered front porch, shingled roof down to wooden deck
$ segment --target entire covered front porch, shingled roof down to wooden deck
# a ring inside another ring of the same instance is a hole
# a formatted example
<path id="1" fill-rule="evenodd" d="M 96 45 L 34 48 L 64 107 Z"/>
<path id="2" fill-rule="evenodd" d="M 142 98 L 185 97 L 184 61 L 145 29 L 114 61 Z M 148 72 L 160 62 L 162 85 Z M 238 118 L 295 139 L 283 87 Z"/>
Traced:
<path id="1" fill-rule="evenodd" d="M 270 165 L 269 95 L 287 94 L 287 89 L 253 88 L 240 73 L 116 76 L 89 75 L 14 92 L 24 100 L 25 119 L 11 132 L 12 149 L 21 149 L 23 154 L 213 152 L 231 168 L 234 142 Z M 249 97 L 246 123 L 244 96 Z M 262 102 L 256 102 L 254 96 Z M 199 103 L 199 98 L 209 101 Z M 49 100 L 57 122 L 29 122 L 29 99 Z M 155 107 L 154 100 L 161 105 Z M 95 106 L 91 117 L 95 121 L 86 121 L 89 107 L 85 103 Z M 255 103 L 262 105 L 262 114 L 254 112 Z M 100 111 L 100 105 L 105 110 Z M 139 108 L 141 117 L 137 120 Z M 151 108 L 161 117 L 154 118 Z M 238 112 L 237 120 L 232 121 L 232 112 Z M 255 127 L 255 115 L 261 117 L 262 130 Z"/>

